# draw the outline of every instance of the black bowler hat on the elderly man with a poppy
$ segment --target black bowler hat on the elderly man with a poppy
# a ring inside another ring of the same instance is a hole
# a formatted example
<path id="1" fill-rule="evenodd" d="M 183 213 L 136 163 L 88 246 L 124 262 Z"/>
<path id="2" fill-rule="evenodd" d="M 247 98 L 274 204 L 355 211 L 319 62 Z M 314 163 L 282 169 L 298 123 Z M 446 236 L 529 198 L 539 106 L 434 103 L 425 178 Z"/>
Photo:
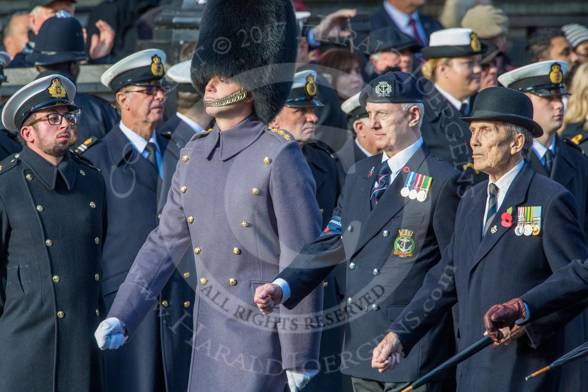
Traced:
<path id="1" fill-rule="evenodd" d="M 472 114 L 461 116 L 460 119 L 465 122 L 507 122 L 529 130 L 533 138 L 543 135 L 543 128 L 533 121 L 531 99 L 522 92 L 503 87 L 489 87 L 480 91 L 474 100 Z"/>

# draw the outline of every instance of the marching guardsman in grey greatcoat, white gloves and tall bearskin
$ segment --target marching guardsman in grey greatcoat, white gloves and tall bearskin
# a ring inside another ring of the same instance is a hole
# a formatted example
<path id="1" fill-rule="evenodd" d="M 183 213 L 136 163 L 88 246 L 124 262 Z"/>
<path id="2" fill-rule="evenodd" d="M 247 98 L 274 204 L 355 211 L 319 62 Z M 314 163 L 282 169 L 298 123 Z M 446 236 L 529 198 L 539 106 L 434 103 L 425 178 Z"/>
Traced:
<path id="1" fill-rule="evenodd" d="M 262 40 L 258 29 L 267 34 Z M 255 42 L 242 46 L 242 31 Z M 134 339 L 192 243 L 199 283 L 191 392 L 283 392 L 286 380 L 295 391 L 318 370 L 323 287 L 279 317 L 263 317 L 251 299 L 320 233 L 315 182 L 300 146 L 268 128 L 290 92 L 296 31 L 289 0 L 206 4 L 191 75 L 216 125 L 181 150 L 159 227 L 95 333 L 103 349 Z"/>

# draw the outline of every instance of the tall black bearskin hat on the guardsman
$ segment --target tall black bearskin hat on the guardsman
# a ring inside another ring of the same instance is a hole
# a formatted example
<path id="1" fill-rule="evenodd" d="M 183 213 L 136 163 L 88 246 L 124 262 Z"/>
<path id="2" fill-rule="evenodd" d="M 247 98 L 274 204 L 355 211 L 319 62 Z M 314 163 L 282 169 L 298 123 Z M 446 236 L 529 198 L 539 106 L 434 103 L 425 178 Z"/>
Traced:
<path id="1" fill-rule="evenodd" d="M 253 95 L 258 119 L 269 123 L 290 93 L 298 25 L 290 0 L 209 0 L 202 14 L 191 77 L 203 97 L 225 76 Z"/>

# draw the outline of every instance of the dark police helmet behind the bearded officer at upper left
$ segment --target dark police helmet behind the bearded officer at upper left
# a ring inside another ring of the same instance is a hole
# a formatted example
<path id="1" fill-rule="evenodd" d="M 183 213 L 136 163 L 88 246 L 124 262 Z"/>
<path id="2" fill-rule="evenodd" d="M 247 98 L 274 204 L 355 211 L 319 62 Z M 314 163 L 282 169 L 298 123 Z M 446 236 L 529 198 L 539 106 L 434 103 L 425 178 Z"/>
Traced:
<path id="1" fill-rule="evenodd" d="M 35 39 L 35 48 L 26 55 L 26 61 L 37 65 L 86 59 L 82 25 L 65 11 L 59 11 L 43 23 Z"/>

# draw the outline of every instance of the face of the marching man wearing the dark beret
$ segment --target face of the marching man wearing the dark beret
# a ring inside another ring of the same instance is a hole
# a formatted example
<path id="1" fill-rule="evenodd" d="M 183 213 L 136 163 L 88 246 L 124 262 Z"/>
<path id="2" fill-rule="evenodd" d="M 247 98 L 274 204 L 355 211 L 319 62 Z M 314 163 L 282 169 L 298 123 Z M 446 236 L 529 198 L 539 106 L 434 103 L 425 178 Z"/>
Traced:
<path id="1" fill-rule="evenodd" d="M 410 110 L 402 110 L 401 103 L 368 102 L 366 110 L 369 115 L 369 127 L 373 130 L 374 142 L 378 149 L 387 150 L 403 146 L 406 140 L 414 138 L 414 135 L 411 135 L 414 131 L 409 123 L 415 120 L 411 119 Z"/>

